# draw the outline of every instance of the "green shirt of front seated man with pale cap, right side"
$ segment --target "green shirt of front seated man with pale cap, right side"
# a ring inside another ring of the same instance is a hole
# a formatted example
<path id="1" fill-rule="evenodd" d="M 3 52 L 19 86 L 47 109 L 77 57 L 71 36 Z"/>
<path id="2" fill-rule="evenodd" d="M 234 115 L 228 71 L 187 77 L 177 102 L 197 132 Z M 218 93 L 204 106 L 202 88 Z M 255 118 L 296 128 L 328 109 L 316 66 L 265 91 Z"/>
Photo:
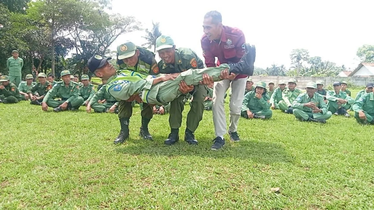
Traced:
<path id="1" fill-rule="evenodd" d="M 291 107 L 301 109 L 305 112 L 313 112 L 312 108 L 304 106 L 304 104 L 313 102 L 319 109 L 322 109 L 322 114 L 328 112 L 328 107 L 324 101 L 324 96 L 319 93 L 314 93 L 313 98 L 310 98 L 307 93 L 301 93 L 297 98 L 292 102 Z"/>

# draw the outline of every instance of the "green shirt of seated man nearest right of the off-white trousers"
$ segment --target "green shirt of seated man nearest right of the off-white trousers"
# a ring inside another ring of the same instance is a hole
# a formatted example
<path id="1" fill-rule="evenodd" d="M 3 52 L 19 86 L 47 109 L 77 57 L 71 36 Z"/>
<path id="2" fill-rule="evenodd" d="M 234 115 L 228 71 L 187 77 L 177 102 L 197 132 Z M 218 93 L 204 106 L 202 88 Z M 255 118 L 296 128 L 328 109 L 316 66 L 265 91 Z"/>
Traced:
<path id="1" fill-rule="evenodd" d="M 268 110 L 270 109 L 270 97 L 266 93 L 262 95 L 261 99 L 256 97 L 256 92 L 248 92 L 242 102 L 242 112 L 248 110 Z"/>

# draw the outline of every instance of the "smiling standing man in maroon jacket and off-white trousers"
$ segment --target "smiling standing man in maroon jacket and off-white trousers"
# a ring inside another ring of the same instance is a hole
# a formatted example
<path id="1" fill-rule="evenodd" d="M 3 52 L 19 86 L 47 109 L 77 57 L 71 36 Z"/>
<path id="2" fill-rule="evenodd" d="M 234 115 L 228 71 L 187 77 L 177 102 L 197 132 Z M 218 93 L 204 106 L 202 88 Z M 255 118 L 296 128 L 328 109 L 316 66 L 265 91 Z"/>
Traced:
<path id="1" fill-rule="evenodd" d="M 245 37 L 241 30 L 222 25 L 221 13 L 211 11 L 206 13 L 203 22 L 204 35 L 201 38 L 201 47 L 207 67 L 215 67 L 220 64 L 231 64 L 230 72 L 248 72 L 232 71 L 236 64 L 240 64 L 241 58 L 246 53 Z M 248 52 L 248 49 L 247 49 Z M 255 55 L 253 55 L 255 56 Z M 215 57 L 218 58 L 215 64 Z M 253 57 L 254 62 L 254 57 Z M 253 67 L 253 65 L 252 65 Z M 252 68 L 251 67 L 251 68 Z M 253 72 L 253 70 L 252 70 Z M 230 98 L 230 127 L 229 135 L 232 141 L 239 141 L 237 126 L 240 118 L 245 85 L 248 75 L 245 74 L 223 74 L 224 80 L 214 84 L 213 91 L 213 123 L 215 129 L 214 144 L 211 149 L 222 148 L 225 144 L 223 135 L 227 133 L 226 115 L 224 109 L 224 95 L 232 87 L 232 96 Z"/>

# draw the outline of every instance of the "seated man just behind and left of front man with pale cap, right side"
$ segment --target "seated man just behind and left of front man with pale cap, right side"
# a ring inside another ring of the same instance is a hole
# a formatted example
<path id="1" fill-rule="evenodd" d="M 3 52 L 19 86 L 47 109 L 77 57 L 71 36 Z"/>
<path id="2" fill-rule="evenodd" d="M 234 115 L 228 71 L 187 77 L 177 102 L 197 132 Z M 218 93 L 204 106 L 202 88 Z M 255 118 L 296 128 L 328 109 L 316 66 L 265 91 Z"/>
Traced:
<path id="1" fill-rule="evenodd" d="M 291 78 L 288 80 L 288 88 L 282 92 L 282 100 L 279 101 L 279 109 L 284 111 L 286 114 L 292 114 L 292 102 L 297 98 L 302 92 L 300 89 L 296 88 L 296 80 Z"/>

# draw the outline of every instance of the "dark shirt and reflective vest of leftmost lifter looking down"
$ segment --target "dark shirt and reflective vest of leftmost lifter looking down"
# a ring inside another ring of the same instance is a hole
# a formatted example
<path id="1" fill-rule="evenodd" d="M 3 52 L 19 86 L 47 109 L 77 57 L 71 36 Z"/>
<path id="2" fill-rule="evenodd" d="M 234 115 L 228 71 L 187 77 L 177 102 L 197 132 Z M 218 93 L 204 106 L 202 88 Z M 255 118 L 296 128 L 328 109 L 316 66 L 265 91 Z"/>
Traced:
<path id="1" fill-rule="evenodd" d="M 117 55 L 117 64 L 119 69 L 136 71 L 140 74 L 144 74 L 145 76 L 150 74 L 159 74 L 159 67 L 157 66 L 157 61 L 154 58 L 154 53 L 143 47 L 137 46 L 137 49 L 139 50 L 140 54 L 138 63 L 135 65 L 135 67 L 129 67 L 122 60 L 119 60 Z"/>

